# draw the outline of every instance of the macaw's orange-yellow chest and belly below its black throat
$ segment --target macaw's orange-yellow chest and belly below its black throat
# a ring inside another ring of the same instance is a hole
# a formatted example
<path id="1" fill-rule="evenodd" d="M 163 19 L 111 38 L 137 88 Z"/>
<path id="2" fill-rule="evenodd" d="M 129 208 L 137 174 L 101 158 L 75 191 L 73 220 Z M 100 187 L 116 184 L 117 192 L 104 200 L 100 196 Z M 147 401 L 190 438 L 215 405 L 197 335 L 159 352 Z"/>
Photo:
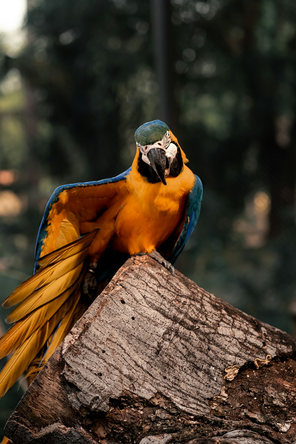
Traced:
<path id="1" fill-rule="evenodd" d="M 114 250 L 150 253 L 170 236 L 182 218 L 194 175 L 187 166 L 177 178 L 149 183 L 132 169 L 127 177 L 129 194 L 118 212 L 112 241 Z"/>

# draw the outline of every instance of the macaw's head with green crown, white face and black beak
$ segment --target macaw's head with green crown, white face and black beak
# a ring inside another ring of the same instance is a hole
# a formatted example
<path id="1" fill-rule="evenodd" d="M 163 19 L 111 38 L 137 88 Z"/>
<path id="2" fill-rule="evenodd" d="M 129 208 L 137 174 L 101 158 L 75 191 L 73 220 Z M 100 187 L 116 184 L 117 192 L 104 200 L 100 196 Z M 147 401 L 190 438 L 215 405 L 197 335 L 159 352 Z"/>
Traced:
<path id="1" fill-rule="evenodd" d="M 144 123 L 134 133 L 134 139 L 139 149 L 138 171 L 148 182 L 166 185 L 166 177 L 181 173 L 181 149 L 166 123 L 161 120 Z"/>

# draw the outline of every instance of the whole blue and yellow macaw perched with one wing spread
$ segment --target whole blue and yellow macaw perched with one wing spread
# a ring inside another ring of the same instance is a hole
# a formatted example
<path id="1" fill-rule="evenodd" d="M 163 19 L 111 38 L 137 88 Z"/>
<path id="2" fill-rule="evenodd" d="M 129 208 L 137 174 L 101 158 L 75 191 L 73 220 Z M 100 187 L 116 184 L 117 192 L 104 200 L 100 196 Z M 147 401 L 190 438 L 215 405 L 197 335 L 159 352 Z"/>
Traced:
<path id="1" fill-rule="evenodd" d="M 157 250 L 172 269 L 188 241 L 201 207 L 200 179 L 160 120 L 139 127 L 135 141 L 124 173 L 60 186 L 47 203 L 35 274 L 3 302 L 18 305 L 0 338 L 0 358 L 13 353 L 0 373 L 0 396 L 26 369 L 29 383 L 34 379 L 87 308 L 90 289 L 102 289 L 126 258 Z"/>

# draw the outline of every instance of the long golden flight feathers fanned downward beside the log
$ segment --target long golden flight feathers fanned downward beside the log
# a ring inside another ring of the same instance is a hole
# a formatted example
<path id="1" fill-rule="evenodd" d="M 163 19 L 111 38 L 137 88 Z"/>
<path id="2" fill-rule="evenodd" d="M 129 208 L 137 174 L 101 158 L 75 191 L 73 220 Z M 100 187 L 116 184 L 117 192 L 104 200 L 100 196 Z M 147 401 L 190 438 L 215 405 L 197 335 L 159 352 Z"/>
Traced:
<path id="1" fill-rule="evenodd" d="M 13 353 L 0 373 L 0 396 L 17 381 L 48 342 L 49 348 L 42 359 L 45 362 L 73 325 L 85 260 L 97 233 L 98 230 L 94 230 L 43 256 L 39 271 L 4 301 L 6 307 L 19 305 L 6 319 L 15 324 L 0 338 L 0 357 Z M 36 373 L 37 367 L 34 371 L 31 369 L 31 373 Z"/>

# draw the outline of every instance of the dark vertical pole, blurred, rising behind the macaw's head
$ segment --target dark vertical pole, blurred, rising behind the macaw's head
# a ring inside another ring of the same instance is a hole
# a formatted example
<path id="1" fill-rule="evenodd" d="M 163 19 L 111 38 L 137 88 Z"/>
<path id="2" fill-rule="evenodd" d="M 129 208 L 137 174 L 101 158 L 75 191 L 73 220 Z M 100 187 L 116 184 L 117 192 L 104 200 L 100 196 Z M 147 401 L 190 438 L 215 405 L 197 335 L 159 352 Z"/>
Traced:
<path id="1" fill-rule="evenodd" d="M 172 131 L 176 130 L 174 103 L 174 33 L 171 23 L 170 0 L 151 0 L 154 34 L 154 60 L 159 84 L 158 119 Z"/>

